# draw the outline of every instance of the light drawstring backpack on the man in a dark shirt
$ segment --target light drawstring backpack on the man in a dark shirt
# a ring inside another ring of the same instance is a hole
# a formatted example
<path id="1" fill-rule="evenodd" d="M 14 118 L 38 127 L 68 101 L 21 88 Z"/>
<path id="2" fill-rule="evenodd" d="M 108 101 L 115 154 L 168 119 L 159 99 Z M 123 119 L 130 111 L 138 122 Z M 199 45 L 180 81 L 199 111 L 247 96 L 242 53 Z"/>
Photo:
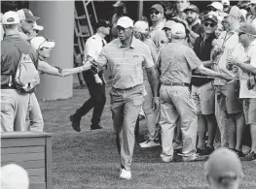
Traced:
<path id="1" fill-rule="evenodd" d="M 15 47 L 17 47 L 14 44 Z M 17 47 L 18 48 L 18 47 Z M 27 53 L 21 53 L 19 61 L 18 61 L 18 68 L 15 74 L 15 86 L 18 90 L 18 93 L 32 93 L 35 90 L 35 87 L 39 84 L 40 78 L 38 71 L 34 65 L 34 62 L 29 55 L 31 45 L 29 44 L 29 49 Z"/>

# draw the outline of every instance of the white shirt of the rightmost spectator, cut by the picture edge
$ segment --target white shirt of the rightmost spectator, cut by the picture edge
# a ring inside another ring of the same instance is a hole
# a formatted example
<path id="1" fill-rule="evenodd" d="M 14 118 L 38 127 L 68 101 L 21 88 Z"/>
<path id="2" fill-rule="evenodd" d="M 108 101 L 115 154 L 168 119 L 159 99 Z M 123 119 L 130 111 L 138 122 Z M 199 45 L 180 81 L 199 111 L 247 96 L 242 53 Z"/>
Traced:
<path id="1" fill-rule="evenodd" d="M 240 47 L 239 50 L 243 50 L 243 52 L 245 53 L 246 59 L 249 58 L 250 60 L 250 65 L 256 68 L 256 40 L 254 40 L 250 44 L 247 51 L 244 51 L 243 47 L 242 48 Z M 237 54 L 241 56 L 239 52 Z M 239 98 L 256 98 L 256 90 L 255 89 L 249 90 L 246 85 L 247 80 L 249 79 L 248 73 L 243 72 L 241 69 L 239 69 L 239 78 L 240 78 Z"/>

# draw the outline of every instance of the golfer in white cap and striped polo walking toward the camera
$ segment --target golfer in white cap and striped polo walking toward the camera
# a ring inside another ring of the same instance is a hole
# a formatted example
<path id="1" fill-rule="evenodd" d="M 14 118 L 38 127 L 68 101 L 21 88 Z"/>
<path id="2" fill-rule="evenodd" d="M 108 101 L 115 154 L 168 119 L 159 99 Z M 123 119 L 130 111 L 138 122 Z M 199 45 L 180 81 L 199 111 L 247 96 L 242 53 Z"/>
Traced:
<path id="1" fill-rule="evenodd" d="M 113 76 L 110 103 L 121 156 L 120 178 L 130 179 L 134 128 L 144 98 L 142 65 L 152 88 L 155 109 L 159 106 L 158 80 L 149 47 L 132 36 L 133 21 L 123 16 L 117 22 L 117 29 L 119 38 L 102 48 L 96 62 L 99 69 L 107 64 Z"/>

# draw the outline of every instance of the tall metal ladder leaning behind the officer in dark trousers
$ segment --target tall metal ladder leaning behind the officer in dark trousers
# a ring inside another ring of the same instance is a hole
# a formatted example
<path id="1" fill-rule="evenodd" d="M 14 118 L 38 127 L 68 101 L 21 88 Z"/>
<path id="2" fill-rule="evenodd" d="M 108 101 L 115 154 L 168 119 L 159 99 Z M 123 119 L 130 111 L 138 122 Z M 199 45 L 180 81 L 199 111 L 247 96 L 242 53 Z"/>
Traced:
<path id="1" fill-rule="evenodd" d="M 84 59 L 84 50 L 85 44 L 88 38 L 94 34 L 92 25 L 91 25 L 91 16 L 93 16 L 95 22 L 97 22 L 97 16 L 95 12 L 95 7 L 93 1 L 85 1 L 83 0 L 83 6 L 81 6 L 81 1 L 74 1 L 75 3 L 75 10 L 74 10 L 74 17 L 75 17 L 75 25 L 74 25 L 74 66 L 79 67 L 82 66 L 82 62 Z M 91 10 L 89 10 L 89 6 L 91 5 Z M 81 10 L 81 8 L 83 10 Z M 78 10 L 80 12 L 85 13 L 85 15 L 78 16 Z M 90 12 L 91 11 L 91 12 Z M 90 13 L 92 13 L 90 15 Z M 82 24 L 84 23 L 84 24 Z M 85 80 L 83 79 L 82 73 L 78 74 L 79 83 L 81 86 L 85 86 Z"/>

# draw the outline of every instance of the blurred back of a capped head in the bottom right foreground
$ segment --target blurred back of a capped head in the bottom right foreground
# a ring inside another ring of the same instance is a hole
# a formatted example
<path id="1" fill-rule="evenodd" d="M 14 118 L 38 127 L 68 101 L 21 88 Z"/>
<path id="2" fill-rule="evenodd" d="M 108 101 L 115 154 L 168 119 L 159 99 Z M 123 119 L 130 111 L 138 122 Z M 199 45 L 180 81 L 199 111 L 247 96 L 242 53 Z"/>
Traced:
<path id="1" fill-rule="evenodd" d="M 238 155 L 228 148 L 218 148 L 204 165 L 210 189 L 238 189 L 243 173 Z"/>

